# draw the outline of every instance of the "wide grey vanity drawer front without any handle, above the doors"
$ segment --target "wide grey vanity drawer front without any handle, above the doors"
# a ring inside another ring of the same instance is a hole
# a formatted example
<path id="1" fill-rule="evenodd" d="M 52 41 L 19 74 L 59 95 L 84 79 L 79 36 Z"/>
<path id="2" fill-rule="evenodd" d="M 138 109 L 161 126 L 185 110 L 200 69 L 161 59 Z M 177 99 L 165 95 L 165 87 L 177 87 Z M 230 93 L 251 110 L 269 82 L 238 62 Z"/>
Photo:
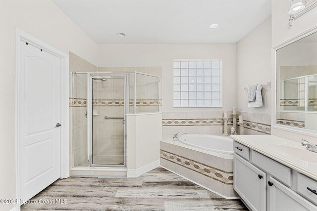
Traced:
<path id="1" fill-rule="evenodd" d="M 260 153 L 252 150 L 252 163 L 270 173 L 275 179 L 280 180 L 285 185 L 292 186 L 292 169 L 273 161 L 270 158 L 261 155 Z"/>

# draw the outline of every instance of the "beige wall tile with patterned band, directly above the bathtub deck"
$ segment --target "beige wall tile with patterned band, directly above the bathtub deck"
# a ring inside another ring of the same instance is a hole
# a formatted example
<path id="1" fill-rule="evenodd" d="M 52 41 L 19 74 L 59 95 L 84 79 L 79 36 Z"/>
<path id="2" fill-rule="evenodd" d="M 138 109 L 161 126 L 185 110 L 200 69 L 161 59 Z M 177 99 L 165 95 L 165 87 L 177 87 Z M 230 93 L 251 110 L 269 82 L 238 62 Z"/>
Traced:
<path id="1" fill-rule="evenodd" d="M 230 113 L 230 111 L 228 111 Z M 238 112 L 245 120 L 244 134 L 270 134 L 270 115 Z M 177 132 L 189 134 L 222 134 L 223 112 L 163 112 L 163 139 L 170 138 Z M 239 121 L 239 118 L 237 119 Z M 230 133 L 232 118 L 229 119 L 227 132 Z M 239 133 L 240 128 L 237 127 Z"/>

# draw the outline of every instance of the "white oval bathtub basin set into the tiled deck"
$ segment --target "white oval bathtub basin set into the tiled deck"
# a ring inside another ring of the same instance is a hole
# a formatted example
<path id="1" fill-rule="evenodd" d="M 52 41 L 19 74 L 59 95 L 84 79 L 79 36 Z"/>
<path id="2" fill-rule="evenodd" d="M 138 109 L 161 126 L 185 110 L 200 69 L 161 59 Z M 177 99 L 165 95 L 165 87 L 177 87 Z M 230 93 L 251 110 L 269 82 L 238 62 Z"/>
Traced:
<path id="1" fill-rule="evenodd" d="M 216 153 L 233 155 L 233 140 L 221 135 L 180 134 L 177 140 L 183 144 Z"/>

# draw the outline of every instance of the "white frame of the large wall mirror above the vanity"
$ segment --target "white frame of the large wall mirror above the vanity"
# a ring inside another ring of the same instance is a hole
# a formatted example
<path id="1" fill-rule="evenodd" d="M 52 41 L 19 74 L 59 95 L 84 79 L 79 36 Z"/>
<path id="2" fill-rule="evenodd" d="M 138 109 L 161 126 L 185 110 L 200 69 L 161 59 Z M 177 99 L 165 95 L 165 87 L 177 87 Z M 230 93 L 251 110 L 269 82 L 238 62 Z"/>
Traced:
<path id="1" fill-rule="evenodd" d="M 290 132 L 301 133 L 305 135 L 311 135 L 317 137 L 317 131 L 305 128 L 297 128 L 291 126 L 284 126 L 276 124 L 276 51 L 285 47 L 286 45 L 292 44 L 293 42 L 299 41 L 307 36 L 310 36 L 314 33 L 317 33 L 317 27 L 314 27 L 286 42 L 282 42 L 274 47 L 272 47 L 272 115 L 271 115 L 271 128 L 272 129 L 281 129 Z"/>

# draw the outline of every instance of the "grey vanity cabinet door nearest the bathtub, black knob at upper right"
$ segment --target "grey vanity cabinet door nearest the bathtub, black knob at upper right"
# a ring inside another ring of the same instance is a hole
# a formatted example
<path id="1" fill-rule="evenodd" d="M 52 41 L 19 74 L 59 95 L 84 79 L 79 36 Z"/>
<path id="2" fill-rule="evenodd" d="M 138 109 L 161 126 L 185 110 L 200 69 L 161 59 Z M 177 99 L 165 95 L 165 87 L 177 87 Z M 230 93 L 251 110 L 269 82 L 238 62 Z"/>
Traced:
<path id="1" fill-rule="evenodd" d="M 266 173 L 240 156 L 233 157 L 233 188 L 253 211 L 266 211 Z"/>

